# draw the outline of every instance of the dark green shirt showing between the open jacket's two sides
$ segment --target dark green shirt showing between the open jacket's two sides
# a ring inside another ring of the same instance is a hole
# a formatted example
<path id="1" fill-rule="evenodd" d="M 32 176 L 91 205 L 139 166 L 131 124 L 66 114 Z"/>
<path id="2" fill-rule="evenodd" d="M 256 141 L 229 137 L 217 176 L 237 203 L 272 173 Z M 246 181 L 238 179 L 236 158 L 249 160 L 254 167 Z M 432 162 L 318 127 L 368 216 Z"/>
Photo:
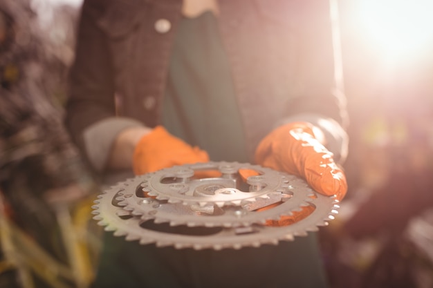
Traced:
<path id="1" fill-rule="evenodd" d="M 212 161 L 247 162 L 230 65 L 211 12 L 183 19 L 174 41 L 163 125 Z"/>

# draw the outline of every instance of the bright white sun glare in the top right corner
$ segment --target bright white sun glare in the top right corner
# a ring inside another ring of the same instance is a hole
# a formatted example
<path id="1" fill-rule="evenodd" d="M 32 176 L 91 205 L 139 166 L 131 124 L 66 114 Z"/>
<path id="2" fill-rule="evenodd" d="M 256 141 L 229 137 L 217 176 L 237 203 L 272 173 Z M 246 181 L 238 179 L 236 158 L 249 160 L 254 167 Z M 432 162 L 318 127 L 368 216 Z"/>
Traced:
<path id="1" fill-rule="evenodd" d="M 360 37 L 387 61 L 407 61 L 430 54 L 433 1 L 357 1 Z"/>

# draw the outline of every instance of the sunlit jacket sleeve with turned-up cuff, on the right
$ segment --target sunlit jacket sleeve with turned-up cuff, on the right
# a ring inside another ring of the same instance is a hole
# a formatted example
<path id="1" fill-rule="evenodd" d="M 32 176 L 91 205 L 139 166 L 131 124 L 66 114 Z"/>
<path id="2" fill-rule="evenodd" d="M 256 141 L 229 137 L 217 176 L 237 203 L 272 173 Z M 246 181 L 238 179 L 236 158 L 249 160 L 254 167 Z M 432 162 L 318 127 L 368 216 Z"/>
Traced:
<path id="1" fill-rule="evenodd" d="M 333 1 L 310 1 L 308 17 L 300 19 L 300 57 L 297 68 L 299 95 L 294 97 L 282 122 L 306 121 L 322 129 L 326 148 L 335 160 L 347 157 L 349 124 L 347 100 L 342 87 L 337 15 Z M 308 3 L 308 1 L 306 1 Z M 306 5 L 304 3 L 304 5 Z"/>

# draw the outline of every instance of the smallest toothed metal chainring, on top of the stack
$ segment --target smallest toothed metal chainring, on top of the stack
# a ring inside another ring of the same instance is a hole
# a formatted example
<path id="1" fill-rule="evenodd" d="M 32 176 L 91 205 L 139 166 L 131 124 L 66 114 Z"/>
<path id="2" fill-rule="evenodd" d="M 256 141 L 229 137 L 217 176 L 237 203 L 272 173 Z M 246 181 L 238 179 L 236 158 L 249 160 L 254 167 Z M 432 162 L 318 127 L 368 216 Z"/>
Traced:
<path id="1" fill-rule="evenodd" d="M 248 191 L 241 189 L 239 169 L 251 169 L 259 175 L 248 177 Z M 219 171 L 220 177 L 194 180 L 197 171 Z M 279 189 L 287 186 L 286 176 L 258 165 L 237 162 L 206 162 L 185 164 L 162 169 L 142 179 L 142 189 L 147 195 L 169 203 L 189 205 L 239 205 L 254 202 L 257 198 L 269 198 L 281 194 Z"/>

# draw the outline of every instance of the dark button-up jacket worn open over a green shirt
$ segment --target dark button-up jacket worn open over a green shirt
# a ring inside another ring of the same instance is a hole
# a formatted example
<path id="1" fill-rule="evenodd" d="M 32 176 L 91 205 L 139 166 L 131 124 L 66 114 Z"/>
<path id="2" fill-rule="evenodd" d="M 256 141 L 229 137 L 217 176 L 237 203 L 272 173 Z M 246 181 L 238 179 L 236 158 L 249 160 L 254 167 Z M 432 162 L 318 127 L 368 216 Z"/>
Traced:
<path id="1" fill-rule="evenodd" d="M 79 146 L 84 129 L 106 117 L 160 124 L 181 4 L 84 1 L 66 119 Z M 318 113 L 344 122 L 327 1 L 221 0 L 219 8 L 250 155 L 285 117 Z"/>

